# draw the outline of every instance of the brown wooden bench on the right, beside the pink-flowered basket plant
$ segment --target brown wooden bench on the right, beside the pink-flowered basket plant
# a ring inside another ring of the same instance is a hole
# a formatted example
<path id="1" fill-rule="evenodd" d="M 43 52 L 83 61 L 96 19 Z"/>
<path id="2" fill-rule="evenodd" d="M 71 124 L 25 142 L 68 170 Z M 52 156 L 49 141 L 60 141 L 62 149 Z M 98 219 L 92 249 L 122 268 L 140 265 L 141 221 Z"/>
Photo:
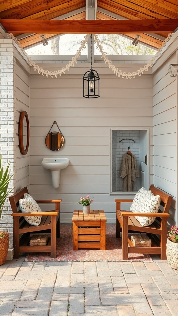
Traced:
<path id="1" fill-rule="evenodd" d="M 132 213 L 121 210 L 121 203 L 131 203 L 130 199 L 115 199 L 116 201 L 116 238 L 120 237 L 122 231 L 122 251 L 123 260 L 128 259 L 128 253 L 149 253 L 160 254 L 162 260 L 166 260 L 166 242 L 167 242 L 167 219 L 170 205 L 172 202 L 172 195 L 150 185 L 149 190 L 154 195 L 160 195 L 162 210 L 158 213 Z M 143 227 L 134 216 L 153 216 L 156 220 L 150 226 Z M 120 228 L 121 227 L 121 228 Z M 152 241 L 151 247 L 135 247 L 130 238 L 129 232 L 146 233 Z M 158 238 L 156 235 L 160 236 Z"/>

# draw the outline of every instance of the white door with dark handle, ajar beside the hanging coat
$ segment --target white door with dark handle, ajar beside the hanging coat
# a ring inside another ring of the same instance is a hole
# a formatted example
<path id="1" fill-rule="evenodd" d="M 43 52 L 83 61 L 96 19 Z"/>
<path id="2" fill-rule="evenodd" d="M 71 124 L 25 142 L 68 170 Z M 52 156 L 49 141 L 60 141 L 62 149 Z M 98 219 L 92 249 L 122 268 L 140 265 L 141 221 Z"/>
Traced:
<path id="1" fill-rule="evenodd" d="M 140 187 L 149 189 L 148 130 L 140 131 Z"/>

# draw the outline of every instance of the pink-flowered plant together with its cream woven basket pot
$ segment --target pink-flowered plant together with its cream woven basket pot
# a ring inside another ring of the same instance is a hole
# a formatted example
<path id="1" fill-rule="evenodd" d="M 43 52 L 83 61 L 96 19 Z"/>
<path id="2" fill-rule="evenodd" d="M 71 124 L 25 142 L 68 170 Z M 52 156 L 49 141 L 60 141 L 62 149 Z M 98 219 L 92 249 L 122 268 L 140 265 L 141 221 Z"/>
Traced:
<path id="1" fill-rule="evenodd" d="M 166 256 L 168 265 L 171 268 L 178 270 L 178 227 L 175 225 L 168 230 Z"/>

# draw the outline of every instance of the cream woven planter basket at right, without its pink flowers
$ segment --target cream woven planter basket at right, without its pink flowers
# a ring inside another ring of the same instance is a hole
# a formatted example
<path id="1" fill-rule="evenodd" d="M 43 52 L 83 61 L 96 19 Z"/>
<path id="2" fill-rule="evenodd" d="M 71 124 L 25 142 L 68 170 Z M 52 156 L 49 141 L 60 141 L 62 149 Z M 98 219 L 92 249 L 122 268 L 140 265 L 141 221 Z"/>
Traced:
<path id="1" fill-rule="evenodd" d="M 169 238 L 167 239 L 166 244 L 166 256 L 168 265 L 171 268 L 178 270 L 178 244 L 170 241 Z"/>

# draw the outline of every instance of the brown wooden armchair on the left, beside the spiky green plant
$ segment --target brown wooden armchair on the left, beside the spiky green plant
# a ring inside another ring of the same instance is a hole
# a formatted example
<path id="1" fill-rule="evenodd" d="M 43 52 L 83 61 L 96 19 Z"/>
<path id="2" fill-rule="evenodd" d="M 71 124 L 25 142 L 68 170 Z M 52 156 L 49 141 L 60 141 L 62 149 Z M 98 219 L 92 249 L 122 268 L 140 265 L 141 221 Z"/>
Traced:
<path id="1" fill-rule="evenodd" d="M 37 203 L 55 203 L 55 210 L 38 212 L 41 215 L 39 226 L 26 222 L 23 216 L 37 215 L 37 213 L 22 213 L 19 199 L 24 193 L 29 193 L 27 187 L 17 191 L 9 197 L 14 220 L 14 258 L 19 258 L 20 252 L 51 252 L 51 258 L 56 258 L 56 238 L 60 237 L 60 202 L 61 200 L 37 200 Z M 46 246 L 29 246 L 30 234 L 51 233 Z"/>

